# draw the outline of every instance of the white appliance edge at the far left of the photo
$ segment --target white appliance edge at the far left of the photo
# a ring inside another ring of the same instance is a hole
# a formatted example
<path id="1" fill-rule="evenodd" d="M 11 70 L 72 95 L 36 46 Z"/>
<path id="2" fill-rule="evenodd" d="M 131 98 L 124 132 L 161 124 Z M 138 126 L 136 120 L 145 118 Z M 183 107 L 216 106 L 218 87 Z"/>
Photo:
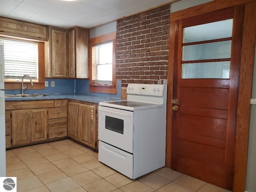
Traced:
<path id="1" fill-rule="evenodd" d="M 0 44 L 0 177 L 6 177 L 5 105 L 4 105 L 4 48 Z"/>

